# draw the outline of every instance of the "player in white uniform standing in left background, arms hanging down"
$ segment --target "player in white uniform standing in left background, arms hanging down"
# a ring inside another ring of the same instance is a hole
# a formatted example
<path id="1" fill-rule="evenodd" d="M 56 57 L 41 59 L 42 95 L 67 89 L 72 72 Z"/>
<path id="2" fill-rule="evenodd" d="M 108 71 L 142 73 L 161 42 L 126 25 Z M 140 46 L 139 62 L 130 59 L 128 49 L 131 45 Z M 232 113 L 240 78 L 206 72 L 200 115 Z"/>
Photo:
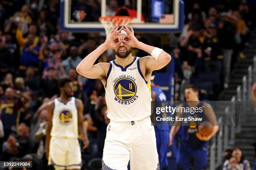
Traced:
<path id="1" fill-rule="evenodd" d="M 79 170 L 82 166 L 81 150 L 78 143 L 82 135 L 84 148 L 89 141 L 83 125 L 82 101 L 72 97 L 72 80 L 59 80 L 61 95 L 47 106 L 48 126 L 46 130 L 46 158 L 56 170 Z M 78 133 L 79 132 L 79 133 Z"/>

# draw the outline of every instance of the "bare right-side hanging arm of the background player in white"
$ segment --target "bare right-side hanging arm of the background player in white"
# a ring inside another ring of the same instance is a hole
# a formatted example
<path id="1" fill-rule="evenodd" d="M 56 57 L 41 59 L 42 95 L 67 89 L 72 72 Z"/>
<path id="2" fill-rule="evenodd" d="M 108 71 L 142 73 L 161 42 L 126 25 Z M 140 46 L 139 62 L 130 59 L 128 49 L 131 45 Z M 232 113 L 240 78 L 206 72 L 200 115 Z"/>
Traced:
<path id="1" fill-rule="evenodd" d="M 83 149 L 85 149 L 89 146 L 89 140 L 88 140 L 87 133 L 84 128 L 84 122 L 83 122 L 84 105 L 80 99 L 76 99 L 76 103 L 78 106 L 77 108 L 78 129 L 79 129 L 79 134 L 82 135 L 82 141 L 84 143 Z"/>

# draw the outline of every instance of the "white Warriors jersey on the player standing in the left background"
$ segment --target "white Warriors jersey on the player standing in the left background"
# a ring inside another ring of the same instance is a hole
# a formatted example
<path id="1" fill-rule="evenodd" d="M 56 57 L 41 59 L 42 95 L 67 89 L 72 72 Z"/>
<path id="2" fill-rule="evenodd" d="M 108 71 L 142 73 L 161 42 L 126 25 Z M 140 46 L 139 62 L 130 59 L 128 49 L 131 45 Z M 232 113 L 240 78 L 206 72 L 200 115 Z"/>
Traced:
<path id="1" fill-rule="evenodd" d="M 76 98 L 64 103 L 54 99 L 51 136 L 57 138 L 78 138 Z"/>

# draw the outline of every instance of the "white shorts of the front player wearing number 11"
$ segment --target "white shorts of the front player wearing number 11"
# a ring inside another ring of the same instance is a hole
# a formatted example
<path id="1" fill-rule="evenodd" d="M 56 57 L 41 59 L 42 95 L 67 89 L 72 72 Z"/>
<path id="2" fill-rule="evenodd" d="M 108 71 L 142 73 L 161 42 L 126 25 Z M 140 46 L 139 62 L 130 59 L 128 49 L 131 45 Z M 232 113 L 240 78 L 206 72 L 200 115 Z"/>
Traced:
<path id="1" fill-rule="evenodd" d="M 159 170 L 156 136 L 150 118 L 113 122 L 107 127 L 102 170 Z"/>

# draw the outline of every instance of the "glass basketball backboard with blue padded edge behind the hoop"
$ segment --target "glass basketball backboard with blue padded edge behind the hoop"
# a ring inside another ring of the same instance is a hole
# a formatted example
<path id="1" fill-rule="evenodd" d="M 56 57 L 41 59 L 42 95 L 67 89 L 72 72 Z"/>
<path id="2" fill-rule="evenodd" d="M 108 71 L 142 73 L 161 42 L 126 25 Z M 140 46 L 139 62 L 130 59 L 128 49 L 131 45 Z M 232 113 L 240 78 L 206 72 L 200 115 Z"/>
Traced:
<path id="1" fill-rule="evenodd" d="M 179 32 L 184 26 L 182 0 L 61 0 L 61 30 L 99 32 L 100 16 L 125 15 L 135 32 Z"/>

